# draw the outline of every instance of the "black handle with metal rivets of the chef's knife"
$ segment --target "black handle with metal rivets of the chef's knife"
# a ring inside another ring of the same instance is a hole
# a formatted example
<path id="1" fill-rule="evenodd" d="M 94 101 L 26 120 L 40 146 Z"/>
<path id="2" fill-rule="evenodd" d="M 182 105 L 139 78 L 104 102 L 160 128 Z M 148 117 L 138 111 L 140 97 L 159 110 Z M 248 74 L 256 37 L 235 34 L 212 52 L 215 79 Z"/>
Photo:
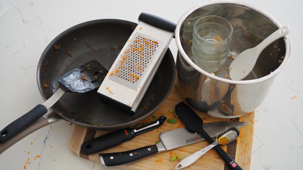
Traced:
<path id="1" fill-rule="evenodd" d="M 156 145 L 144 146 L 125 152 L 100 153 L 99 158 L 103 167 L 126 165 L 158 153 Z"/>

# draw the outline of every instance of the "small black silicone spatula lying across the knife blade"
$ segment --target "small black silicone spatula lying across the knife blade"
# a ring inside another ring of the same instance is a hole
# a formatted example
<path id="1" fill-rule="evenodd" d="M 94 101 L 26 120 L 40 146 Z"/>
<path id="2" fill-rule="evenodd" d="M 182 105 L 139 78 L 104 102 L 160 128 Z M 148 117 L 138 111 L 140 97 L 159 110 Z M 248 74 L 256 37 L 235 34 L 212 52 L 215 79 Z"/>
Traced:
<path id="1" fill-rule="evenodd" d="M 197 115 L 197 113 L 195 113 L 194 110 L 192 110 L 184 102 L 178 103 L 175 110 L 188 130 L 199 132 L 208 143 L 215 142 L 203 129 L 203 120 Z M 214 149 L 231 170 L 242 169 L 237 162 L 235 162 L 219 145 L 216 145 Z"/>

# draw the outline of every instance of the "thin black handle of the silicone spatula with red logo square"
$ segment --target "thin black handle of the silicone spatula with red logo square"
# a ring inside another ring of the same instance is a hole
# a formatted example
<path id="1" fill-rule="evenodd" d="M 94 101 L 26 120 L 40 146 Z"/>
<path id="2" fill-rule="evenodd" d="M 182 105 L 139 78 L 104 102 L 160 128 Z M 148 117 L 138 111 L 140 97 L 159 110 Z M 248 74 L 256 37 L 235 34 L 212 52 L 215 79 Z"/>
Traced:
<path id="1" fill-rule="evenodd" d="M 205 140 L 207 140 L 208 143 L 215 142 L 204 130 L 197 129 L 197 131 L 205 138 Z M 231 170 L 243 170 L 240 165 L 238 165 L 238 163 L 235 162 L 234 159 L 232 159 L 219 145 L 216 145 L 214 149 Z"/>

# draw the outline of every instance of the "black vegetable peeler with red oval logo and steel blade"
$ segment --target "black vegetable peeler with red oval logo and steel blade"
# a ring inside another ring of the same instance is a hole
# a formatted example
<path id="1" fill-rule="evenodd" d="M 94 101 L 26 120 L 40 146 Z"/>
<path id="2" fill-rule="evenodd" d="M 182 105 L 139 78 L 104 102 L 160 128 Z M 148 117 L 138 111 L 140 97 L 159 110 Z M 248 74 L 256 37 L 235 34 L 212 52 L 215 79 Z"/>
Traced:
<path id="1" fill-rule="evenodd" d="M 83 143 L 81 145 L 81 152 L 85 155 L 91 155 L 97 152 L 101 152 L 105 149 L 120 145 L 123 142 L 133 139 L 137 135 L 158 128 L 165 122 L 165 120 L 165 116 L 160 116 L 157 121 L 148 123 L 144 126 L 140 126 L 134 129 L 125 128 L 109 132 L 105 135 L 99 136 L 95 139 Z"/>

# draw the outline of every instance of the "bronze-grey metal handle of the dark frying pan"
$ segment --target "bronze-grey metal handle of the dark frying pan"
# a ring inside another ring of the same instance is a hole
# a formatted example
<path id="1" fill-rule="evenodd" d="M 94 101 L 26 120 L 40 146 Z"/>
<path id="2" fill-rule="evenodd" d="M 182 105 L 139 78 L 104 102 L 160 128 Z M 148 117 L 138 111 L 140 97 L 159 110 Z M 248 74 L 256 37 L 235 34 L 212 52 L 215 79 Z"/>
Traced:
<path id="1" fill-rule="evenodd" d="M 55 112 L 49 113 L 48 115 L 45 115 L 43 117 L 40 117 L 38 120 L 36 120 L 34 123 L 32 123 L 30 126 L 28 126 L 26 129 L 24 129 L 22 132 L 15 135 L 13 138 L 9 139 L 8 141 L 4 143 L 0 143 L 0 154 L 4 152 L 6 149 L 17 143 L 19 140 L 23 139 L 25 136 L 28 136 L 32 132 L 35 132 L 38 129 L 41 129 L 44 126 L 47 126 L 51 123 L 57 122 L 61 120 L 62 117 L 60 117 Z"/>

